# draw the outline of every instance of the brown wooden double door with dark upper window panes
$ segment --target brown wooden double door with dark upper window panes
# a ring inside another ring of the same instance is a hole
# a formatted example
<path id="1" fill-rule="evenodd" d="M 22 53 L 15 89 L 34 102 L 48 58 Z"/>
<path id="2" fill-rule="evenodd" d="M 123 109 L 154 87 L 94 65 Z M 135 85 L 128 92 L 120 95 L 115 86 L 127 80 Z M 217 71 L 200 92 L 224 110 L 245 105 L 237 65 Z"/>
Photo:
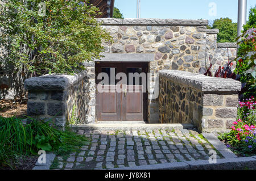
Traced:
<path id="1" fill-rule="evenodd" d="M 147 72 L 147 68 L 147 63 L 96 62 L 97 121 L 146 121 L 147 83 L 143 83 L 143 76 L 137 81 L 134 77 L 129 78 L 129 73 L 142 75 L 141 73 Z M 98 79 L 100 73 L 108 74 L 109 80 L 103 83 L 105 78 Z M 118 73 L 126 75 L 126 84 L 120 83 L 123 77 Z M 129 83 L 131 78 L 133 83 Z"/>

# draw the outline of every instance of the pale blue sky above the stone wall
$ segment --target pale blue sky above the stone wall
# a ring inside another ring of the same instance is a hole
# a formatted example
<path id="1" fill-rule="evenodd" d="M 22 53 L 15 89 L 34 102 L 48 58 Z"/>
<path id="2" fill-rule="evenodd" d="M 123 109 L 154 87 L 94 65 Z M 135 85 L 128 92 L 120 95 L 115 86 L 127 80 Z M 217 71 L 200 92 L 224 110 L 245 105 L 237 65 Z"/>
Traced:
<path id="1" fill-rule="evenodd" d="M 247 0 L 247 19 L 249 9 L 254 5 L 256 5 L 256 0 Z M 125 18 L 136 18 L 137 0 L 115 0 L 114 6 Z M 214 11 L 214 6 L 216 6 L 216 11 Z M 237 22 L 237 6 L 238 0 L 141 0 L 141 18 L 202 18 L 213 21 L 217 18 L 228 17 L 233 22 Z"/>

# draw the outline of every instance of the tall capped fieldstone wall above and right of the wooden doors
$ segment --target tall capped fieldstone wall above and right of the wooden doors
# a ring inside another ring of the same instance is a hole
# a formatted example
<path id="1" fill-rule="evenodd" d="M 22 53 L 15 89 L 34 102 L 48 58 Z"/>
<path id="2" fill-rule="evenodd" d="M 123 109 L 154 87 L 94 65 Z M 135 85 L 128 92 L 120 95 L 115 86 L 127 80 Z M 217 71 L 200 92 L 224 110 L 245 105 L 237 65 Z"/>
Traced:
<path id="1" fill-rule="evenodd" d="M 104 53 L 153 54 L 149 72 L 184 70 L 197 72 L 205 64 L 207 20 L 177 19 L 99 19 L 110 32 L 113 43 L 103 43 Z M 159 123 L 158 99 L 152 99 L 156 74 L 150 78 L 149 123 Z"/>

